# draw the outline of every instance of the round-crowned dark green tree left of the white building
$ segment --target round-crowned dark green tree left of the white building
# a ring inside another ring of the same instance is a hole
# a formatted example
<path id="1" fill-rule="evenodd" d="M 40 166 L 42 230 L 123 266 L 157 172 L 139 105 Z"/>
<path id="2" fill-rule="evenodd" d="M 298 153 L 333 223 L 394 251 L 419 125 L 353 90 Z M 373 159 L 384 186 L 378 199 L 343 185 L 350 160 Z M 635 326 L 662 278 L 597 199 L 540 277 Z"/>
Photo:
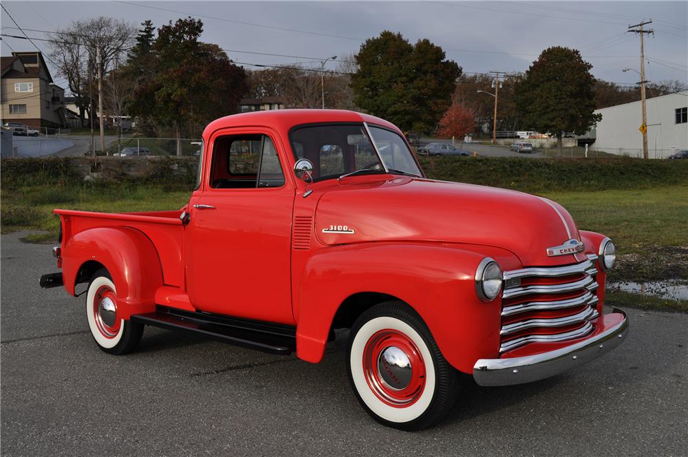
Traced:
<path id="1" fill-rule="evenodd" d="M 549 47 L 516 87 L 516 105 L 524 113 L 526 125 L 555 133 L 560 153 L 563 131 L 582 135 L 602 118 L 593 112 L 595 79 L 591 68 L 578 50 Z"/>

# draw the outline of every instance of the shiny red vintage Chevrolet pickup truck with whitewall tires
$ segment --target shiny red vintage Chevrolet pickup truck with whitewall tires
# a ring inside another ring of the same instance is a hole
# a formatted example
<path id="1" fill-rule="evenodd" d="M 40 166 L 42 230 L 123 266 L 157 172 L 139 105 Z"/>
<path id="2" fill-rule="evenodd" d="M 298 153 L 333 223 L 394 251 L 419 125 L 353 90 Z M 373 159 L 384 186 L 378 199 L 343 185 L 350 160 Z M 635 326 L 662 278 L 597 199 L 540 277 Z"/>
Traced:
<path id="1" fill-rule="evenodd" d="M 361 405 L 428 427 L 480 385 L 546 378 L 627 336 L 603 313 L 614 244 L 546 198 L 427 179 L 401 131 L 351 111 L 215 120 L 180 211 L 57 209 L 61 273 L 87 285 L 86 316 L 110 354 L 144 326 L 273 354 L 323 358 L 350 328 Z"/>

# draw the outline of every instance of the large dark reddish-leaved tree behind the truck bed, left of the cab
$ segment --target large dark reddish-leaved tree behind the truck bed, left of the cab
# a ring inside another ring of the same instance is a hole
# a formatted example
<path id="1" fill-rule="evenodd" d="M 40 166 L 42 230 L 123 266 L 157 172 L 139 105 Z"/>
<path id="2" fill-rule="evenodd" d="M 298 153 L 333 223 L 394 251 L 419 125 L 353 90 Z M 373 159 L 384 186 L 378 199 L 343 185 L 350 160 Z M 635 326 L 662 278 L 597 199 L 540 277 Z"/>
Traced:
<path id="1" fill-rule="evenodd" d="M 199 41 L 202 32 L 202 21 L 191 17 L 158 29 L 153 72 L 137 91 L 150 105 L 131 107 L 132 114 L 150 115 L 156 123 L 174 128 L 178 156 L 182 127 L 233 114 L 247 89 L 244 69 L 219 46 Z"/>

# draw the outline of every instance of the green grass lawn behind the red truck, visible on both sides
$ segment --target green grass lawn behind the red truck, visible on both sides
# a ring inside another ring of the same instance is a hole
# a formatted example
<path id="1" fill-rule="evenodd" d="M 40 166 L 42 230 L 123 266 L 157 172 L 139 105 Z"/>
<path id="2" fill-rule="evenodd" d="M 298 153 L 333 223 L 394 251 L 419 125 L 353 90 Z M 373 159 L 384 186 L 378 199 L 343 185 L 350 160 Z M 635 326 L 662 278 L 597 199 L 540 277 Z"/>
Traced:
<path id="1" fill-rule="evenodd" d="M 153 151 L 152 145 L 141 145 Z M 682 161 L 426 158 L 422 162 L 433 178 L 521 189 L 559 202 L 579 229 L 604 233 L 614 240 L 618 257 L 610 281 L 688 279 L 688 169 L 669 163 Z M 189 200 L 190 191 L 182 189 L 190 184 L 177 178 L 158 184 L 84 183 L 69 178 L 61 168 L 64 164 L 41 162 L 36 170 L 29 164 L 17 162 L 12 168 L 8 162 L 3 166 L 0 196 L 2 233 L 45 231 L 28 235 L 30 242 L 56 240 L 54 208 L 158 211 L 180 209 Z M 688 312 L 686 300 L 623 292 L 611 292 L 609 297 L 611 305 Z"/>

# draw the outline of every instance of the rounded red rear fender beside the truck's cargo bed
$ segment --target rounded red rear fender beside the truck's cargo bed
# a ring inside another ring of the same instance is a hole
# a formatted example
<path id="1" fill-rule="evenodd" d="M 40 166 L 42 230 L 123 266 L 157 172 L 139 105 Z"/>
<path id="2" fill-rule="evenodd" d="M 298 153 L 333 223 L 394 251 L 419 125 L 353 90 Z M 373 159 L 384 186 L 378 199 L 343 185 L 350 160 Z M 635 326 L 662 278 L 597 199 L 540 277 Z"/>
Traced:
<path id="1" fill-rule="evenodd" d="M 117 288 L 122 318 L 155 311 L 155 290 L 162 286 L 160 257 L 153 242 L 131 227 L 97 227 L 67 240 L 62 255 L 67 292 L 75 295 L 76 276 L 85 262 L 103 264 Z"/>

